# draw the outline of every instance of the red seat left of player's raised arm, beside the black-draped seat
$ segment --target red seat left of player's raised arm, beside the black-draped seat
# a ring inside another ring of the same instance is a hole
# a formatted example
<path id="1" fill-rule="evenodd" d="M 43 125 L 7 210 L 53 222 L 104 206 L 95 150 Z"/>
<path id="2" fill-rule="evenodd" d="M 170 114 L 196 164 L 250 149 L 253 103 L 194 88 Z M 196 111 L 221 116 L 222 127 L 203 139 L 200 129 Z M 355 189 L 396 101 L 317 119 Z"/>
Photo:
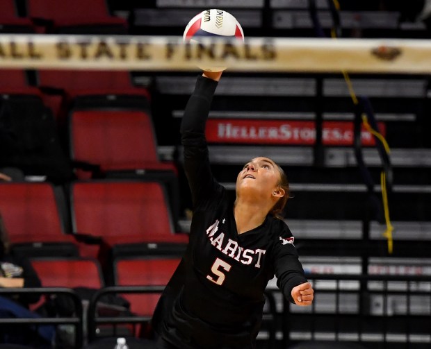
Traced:
<path id="1" fill-rule="evenodd" d="M 72 110 L 70 158 L 76 176 L 142 178 L 163 181 L 174 223 L 178 219 L 179 183 L 172 162 L 161 162 L 152 119 L 143 110 Z"/>

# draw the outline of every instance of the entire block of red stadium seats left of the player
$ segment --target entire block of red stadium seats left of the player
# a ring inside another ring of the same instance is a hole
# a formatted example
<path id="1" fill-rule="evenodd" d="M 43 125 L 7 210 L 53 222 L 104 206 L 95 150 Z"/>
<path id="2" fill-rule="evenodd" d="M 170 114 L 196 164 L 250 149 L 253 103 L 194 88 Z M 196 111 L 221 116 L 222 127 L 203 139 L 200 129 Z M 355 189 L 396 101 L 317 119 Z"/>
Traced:
<path id="1" fill-rule="evenodd" d="M 112 16 L 106 5 L 2 1 L 0 32 L 127 33 L 127 20 Z M 175 231 L 170 201 L 177 169 L 158 160 L 148 90 L 133 85 L 128 71 L 13 69 L 0 70 L 0 93 L 2 117 L 8 114 L 22 139 L 43 139 L 65 152 L 61 164 L 54 164 L 52 152 L 39 158 L 45 169 L 69 165 L 73 171 L 63 180 L 29 182 L 31 175 L 43 175 L 30 164 L 26 182 L 0 184 L 12 249 L 31 257 L 42 287 L 164 286 L 188 236 Z M 151 316 L 159 297 L 120 296 L 140 316 Z"/>

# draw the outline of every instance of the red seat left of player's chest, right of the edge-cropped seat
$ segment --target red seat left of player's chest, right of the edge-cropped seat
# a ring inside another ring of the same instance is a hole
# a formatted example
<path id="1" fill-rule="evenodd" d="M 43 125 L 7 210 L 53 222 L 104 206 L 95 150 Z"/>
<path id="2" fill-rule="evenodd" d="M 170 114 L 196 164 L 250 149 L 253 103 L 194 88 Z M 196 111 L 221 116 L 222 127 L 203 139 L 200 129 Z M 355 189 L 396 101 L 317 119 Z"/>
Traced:
<path id="1" fill-rule="evenodd" d="M 71 205 L 74 232 L 101 237 L 104 241 L 106 250 L 99 251 L 102 263 L 106 262 L 107 252 L 114 255 L 160 253 L 161 250 L 178 253 L 188 242 L 188 235 L 174 232 L 165 192 L 158 182 L 74 182 Z M 81 255 L 97 252 L 89 246 L 87 252 L 81 250 Z"/>

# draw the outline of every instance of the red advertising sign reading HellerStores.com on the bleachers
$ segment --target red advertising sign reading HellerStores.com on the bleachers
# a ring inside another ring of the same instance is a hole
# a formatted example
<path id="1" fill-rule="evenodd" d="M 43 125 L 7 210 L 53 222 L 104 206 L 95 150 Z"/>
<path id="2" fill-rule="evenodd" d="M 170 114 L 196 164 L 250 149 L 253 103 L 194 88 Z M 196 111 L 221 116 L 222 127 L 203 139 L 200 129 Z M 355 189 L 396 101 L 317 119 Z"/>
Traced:
<path id="1" fill-rule="evenodd" d="M 386 127 L 382 122 L 378 124 L 384 136 Z M 352 146 L 353 127 L 352 121 L 323 121 L 323 144 Z M 314 121 L 209 119 L 206 139 L 213 143 L 313 145 L 316 128 Z M 364 127 L 361 139 L 364 146 L 375 144 L 373 135 Z"/>

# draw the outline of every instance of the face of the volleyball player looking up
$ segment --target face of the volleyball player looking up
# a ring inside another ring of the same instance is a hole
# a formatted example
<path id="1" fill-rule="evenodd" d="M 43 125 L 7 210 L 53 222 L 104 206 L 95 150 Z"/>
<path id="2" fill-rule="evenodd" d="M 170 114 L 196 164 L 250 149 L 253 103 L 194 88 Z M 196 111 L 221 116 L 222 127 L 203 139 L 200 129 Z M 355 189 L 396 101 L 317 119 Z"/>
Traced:
<path id="1" fill-rule="evenodd" d="M 269 196 L 278 187 L 280 173 L 273 160 L 268 158 L 254 158 L 244 165 L 236 178 L 236 189 L 259 189 Z M 265 195 L 266 196 L 266 195 Z"/>

